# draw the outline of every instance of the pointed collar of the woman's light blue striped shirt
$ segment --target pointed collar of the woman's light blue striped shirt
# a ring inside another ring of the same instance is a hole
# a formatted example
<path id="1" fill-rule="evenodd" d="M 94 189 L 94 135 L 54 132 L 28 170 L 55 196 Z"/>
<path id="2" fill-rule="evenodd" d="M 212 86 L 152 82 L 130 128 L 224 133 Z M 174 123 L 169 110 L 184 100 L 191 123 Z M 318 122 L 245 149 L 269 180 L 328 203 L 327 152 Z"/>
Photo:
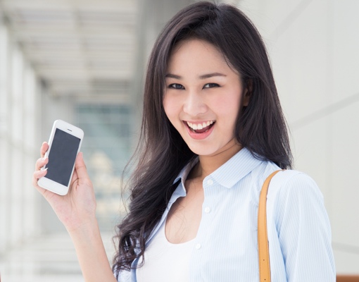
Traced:
<path id="1" fill-rule="evenodd" d="M 176 191 L 180 192 L 181 196 L 186 195 L 186 190 L 184 188 L 184 181 L 186 180 L 191 169 L 197 164 L 199 158 L 196 157 L 192 161 L 182 168 L 182 171 L 178 174 L 174 183 L 181 179 L 182 190 Z M 241 178 L 244 178 L 248 173 L 253 171 L 262 160 L 253 157 L 253 154 L 249 152 L 248 149 L 243 148 L 237 154 L 235 154 L 231 159 L 229 159 L 225 164 L 217 168 L 213 173 L 210 173 L 208 177 L 212 177 L 220 185 L 225 186 L 225 188 L 232 188 Z M 183 194 L 184 192 L 184 194 Z"/>

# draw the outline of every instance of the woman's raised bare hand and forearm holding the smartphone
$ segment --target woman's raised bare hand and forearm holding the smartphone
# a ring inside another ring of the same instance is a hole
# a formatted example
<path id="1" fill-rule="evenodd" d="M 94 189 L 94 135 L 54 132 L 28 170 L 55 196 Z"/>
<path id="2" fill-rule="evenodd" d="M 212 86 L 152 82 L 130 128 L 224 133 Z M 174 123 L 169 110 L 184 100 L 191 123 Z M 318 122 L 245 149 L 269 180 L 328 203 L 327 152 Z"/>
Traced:
<path id="1" fill-rule="evenodd" d="M 46 176 L 47 173 L 46 170 L 41 171 L 40 168 L 49 161 L 49 159 L 44 159 L 48 149 L 49 145 L 44 142 L 40 149 L 41 159 L 38 159 L 35 165 L 32 184 L 42 193 L 47 202 L 51 204 L 58 219 L 61 220 L 70 233 L 84 281 L 116 282 L 111 266 L 108 263 L 99 225 L 96 221 L 94 188 L 92 188 L 91 180 L 89 180 L 87 175 L 82 152 L 77 154 L 75 171 L 71 179 L 68 194 L 60 196 L 37 185 L 37 180 Z"/>

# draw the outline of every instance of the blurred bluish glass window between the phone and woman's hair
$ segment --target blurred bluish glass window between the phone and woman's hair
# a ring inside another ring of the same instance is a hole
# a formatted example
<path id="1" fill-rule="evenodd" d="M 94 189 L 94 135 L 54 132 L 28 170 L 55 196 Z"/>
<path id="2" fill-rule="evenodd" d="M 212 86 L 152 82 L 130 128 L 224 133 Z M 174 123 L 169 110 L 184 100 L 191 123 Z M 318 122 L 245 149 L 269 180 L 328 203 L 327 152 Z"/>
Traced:
<path id="1" fill-rule="evenodd" d="M 121 176 L 132 154 L 131 116 L 129 105 L 77 105 L 78 125 L 84 130 L 82 152 L 94 183 L 101 231 L 113 231 L 125 212 Z"/>

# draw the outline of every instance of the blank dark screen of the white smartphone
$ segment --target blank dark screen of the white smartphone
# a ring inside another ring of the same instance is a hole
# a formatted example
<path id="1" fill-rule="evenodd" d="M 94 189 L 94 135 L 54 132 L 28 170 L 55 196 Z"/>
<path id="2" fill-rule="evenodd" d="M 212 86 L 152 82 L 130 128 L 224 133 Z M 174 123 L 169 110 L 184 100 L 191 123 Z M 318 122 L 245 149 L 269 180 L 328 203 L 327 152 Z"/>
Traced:
<path id="1" fill-rule="evenodd" d="M 80 145 L 80 138 L 56 128 L 46 165 L 46 178 L 68 186 Z"/>

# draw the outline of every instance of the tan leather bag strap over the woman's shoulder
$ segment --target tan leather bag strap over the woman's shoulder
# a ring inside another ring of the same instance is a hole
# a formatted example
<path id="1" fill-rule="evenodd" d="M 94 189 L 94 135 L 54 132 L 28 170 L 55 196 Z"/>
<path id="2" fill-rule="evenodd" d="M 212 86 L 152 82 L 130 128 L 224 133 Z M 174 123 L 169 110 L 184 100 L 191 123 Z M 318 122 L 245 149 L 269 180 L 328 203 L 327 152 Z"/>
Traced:
<path id="1" fill-rule="evenodd" d="M 275 171 L 267 177 L 262 190 L 260 191 L 258 206 L 258 257 L 260 282 L 270 282 L 270 260 L 267 235 L 267 192 L 270 180 L 279 171 Z"/>

